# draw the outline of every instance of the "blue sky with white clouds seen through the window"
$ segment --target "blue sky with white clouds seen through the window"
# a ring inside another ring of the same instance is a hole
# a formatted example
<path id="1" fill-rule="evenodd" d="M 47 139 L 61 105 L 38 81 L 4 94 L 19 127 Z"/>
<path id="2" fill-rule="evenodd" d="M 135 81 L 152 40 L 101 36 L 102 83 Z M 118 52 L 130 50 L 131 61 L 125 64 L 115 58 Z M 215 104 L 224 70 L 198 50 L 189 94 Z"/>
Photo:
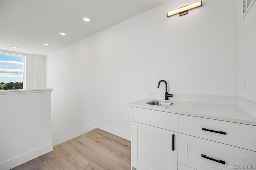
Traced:
<path id="1" fill-rule="evenodd" d="M 24 57 L 0 53 L 0 82 L 22 82 Z"/>

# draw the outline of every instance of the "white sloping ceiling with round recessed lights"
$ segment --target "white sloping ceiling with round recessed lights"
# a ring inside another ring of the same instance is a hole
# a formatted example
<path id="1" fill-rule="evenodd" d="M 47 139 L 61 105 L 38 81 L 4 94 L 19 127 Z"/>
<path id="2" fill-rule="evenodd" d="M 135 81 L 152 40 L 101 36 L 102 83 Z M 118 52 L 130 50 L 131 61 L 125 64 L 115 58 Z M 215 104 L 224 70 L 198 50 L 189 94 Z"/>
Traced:
<path id="1" fill-rule="evenodd" d="M 1 49 L 48 55 L 163 4 L 161 0 L 1 0 Z M 82 16 L 92 21 L 84 22 Z M 66 32 L 61 36 L 58 32 Z M 43 43 L 50 43 L 49 46 Z M 11 46 L 19 47 L 14 49 Z"/>

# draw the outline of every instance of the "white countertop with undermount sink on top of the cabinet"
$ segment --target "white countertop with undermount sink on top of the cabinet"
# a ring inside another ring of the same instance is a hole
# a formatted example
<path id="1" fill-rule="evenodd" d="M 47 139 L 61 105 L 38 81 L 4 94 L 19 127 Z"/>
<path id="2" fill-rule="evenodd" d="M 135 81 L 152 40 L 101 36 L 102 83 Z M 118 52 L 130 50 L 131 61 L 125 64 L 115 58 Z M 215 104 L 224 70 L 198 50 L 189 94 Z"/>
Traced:
<path id="1" fill-rule="evenodd" d="M 235 105 L 221 105 L 176 100 L 168 100 L 169 102 L 173 103 L 173 105 L 170 106 L 156 106 L 146 104 L 147 102 L 153 100 L 164 102 L 162 99 L 148 98 L 129 103 L 129 106 L 256 126 L 256 117 L 253 117 Z"/>

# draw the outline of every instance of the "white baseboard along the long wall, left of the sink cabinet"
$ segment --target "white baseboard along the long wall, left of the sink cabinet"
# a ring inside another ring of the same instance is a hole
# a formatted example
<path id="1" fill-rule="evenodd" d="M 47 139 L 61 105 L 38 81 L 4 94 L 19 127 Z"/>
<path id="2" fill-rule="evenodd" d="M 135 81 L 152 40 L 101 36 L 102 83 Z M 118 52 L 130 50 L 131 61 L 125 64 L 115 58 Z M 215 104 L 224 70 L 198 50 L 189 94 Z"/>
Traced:
<path id="1" fill-rule="evenodd" d="M 126 140 L 131 140 L 131 134 L 123 132 L 121 130 L 118 130 L 116 128 L 112 128 L 106 125 L 102 125 L 101 123 L 98 122 L 92 122 L 82 133 L 88 132 L 89 130 L 92 130 L 94 128 L 100 128 L 106 132 L 112 133 L 116 136 L 119 136 L 121 138 L 124 138 Z M 81 133 L 81 134 L 82 134 Z"/>

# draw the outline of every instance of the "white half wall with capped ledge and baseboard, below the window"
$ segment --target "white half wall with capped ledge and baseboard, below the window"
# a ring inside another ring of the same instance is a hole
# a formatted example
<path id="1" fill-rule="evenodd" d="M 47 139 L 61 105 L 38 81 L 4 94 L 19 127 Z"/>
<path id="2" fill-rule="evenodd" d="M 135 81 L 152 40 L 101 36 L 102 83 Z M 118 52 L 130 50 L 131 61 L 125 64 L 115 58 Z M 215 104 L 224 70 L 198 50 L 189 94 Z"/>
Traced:
<path id="1" fill-rule="evenodd" d="M 52 150 L 51 91 L 0 91 L 1 170 Z"/>

